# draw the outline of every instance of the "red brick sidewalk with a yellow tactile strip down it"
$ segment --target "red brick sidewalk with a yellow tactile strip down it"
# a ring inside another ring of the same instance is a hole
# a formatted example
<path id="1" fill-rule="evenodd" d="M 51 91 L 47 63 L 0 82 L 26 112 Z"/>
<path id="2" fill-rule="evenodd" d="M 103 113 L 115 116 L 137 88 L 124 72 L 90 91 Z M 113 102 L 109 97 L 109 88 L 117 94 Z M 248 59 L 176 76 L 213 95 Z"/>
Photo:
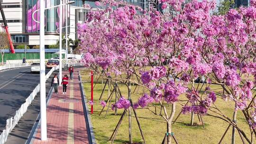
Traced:
<path id="1" fill-rule="evenodd" d="M 69 76 L 68 72 L 64 74 Z M 77 71 L 69 80 L 66 94 L 62 94 L 62 88 L 58 88 L 58 94 L 52 93 L 47 105 L 47 141 L 40 140 L 37 126 L 30 144 L 89 144 Z"/>

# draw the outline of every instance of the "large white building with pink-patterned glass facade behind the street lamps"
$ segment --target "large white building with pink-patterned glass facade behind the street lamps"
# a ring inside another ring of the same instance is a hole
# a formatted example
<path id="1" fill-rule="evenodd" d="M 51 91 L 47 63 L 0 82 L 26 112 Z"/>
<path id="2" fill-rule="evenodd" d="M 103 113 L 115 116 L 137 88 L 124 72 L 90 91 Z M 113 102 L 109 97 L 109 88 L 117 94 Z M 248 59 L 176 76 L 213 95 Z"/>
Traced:
<path id="1" fill-rule="evenodd" d="M 65 0 L 63 0 L 65 1 Z M 63 7 L 63 27 L 66 22 L 68 27 L 69 38 L 75 40 L 76 24 L 82 23 L 86 19 L 86 14 L 89 9 L 83 8 L 84 4 L 88 4 L 91 8 L 97 8 L 95 0 L 73 0 L 75 3 Z M 144 0 L 126 0 L 127 2 L 136 6 L 144 8 Z M 60 0 L 45 0 L 46 8 L 59 5 Z M 39 43 L 39 23 L 36 23 L 32 14 L 40 8 L 40 0 L 1 0 L 7 24 L 9 26 L 9 32 L 13 40 L 14 45 L 28 45 L 30 47 L 34 45 L 40 45 Z M 101 7 L 99 7 L 101 9 Z M 65 20 L 65 9 L 68 11 L 67 18 Z M 45 45 L 46 48 L 49 45 L 55 45 L 59 40 L 58 28 L 59 28 L 59 8 L 47 9 L 45 12 Z M 34 18 L 39 21 L 39 11 L 34 14 Z M 3 20 L 0 15 L 0 24 Z M 62 30 L 65 34 L 65 28 Z"/>

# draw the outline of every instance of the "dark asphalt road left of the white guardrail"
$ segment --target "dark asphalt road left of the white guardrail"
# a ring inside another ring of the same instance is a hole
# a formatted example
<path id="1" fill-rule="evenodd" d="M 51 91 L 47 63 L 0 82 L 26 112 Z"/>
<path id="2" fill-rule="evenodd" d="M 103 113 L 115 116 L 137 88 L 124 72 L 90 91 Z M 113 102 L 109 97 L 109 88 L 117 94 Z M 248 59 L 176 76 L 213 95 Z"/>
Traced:
<path id="1" fill-rule="evenodd" d="M 0 72 L 0 131 L 39 82 L 39 73 L 30 73 L 30 67 Z"/>

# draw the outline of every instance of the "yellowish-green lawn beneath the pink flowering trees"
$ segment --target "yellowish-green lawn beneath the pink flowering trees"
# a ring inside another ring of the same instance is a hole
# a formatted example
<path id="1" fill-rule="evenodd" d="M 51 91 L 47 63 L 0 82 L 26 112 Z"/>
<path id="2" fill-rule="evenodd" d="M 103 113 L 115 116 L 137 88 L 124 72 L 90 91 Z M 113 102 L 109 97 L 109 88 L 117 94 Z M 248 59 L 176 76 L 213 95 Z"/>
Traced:
<path id="1" fill-rule="evenodd" d="M 86 93 L 87 99 L 91 99 L 91 83 L 89 79 L 89 73 L 87 71 L 81 72 L 82 74 L 82 81 L 84 82 L 84 89 Z M 87 81 L 87 82 L 86 82 Z M 96 82 L 96 79 L 94 80 Z M 118 116 L 114 115 L 114 111 L 109 109 L 109 112 L 106 117 L 106 109 L 102 112 L 101 116 L 99 113 L 101 112 L 101 105 L 100 105 L 100 95 L 101 95 L 101 81 L 96 84 L 94 88 L 94 113 L 91 115 L 93 131 L 95 133 L 95 137 L 97 139 L 97 144 L 110 144 L 110 136 L 113 133 L 115 126 L 117 125 L 119 118 L 123 112 L 123 109 L 118 110 Z M 196 86 L 196 85 L 195 85 Z M 127 98 L 128 90 L 125 85 L 119 84 L 120 90 L 122 95 Z M 136 86 L 132 86 L 132 92 Z M 220 91 L 219 85 L 212 85 L 212 90 Z M 111 92 L 111 91 L 110 91 Z M 133 102 L 137 101 L 138 97 L 142 95 L 142 88 L 136 90 L 135 93 L 132 93 L 132 100 Z M 115 96 L 115 95 L 114 95 Z M 108 97 L 108 90 L 104 91 L 104 95 L 102 100 L 107 100 Z M 114 98 L 114 97 L 113 97 Z M 111 104 L 114 103 L 114 99 L 112 99 Z M 234 109 L 229 106 L 230 102 L 225 102 L 223 99 L 218 98 L 216 101 L 216 105 L 224 112 L 226 116 L 230 118 L 233 115 Z M 111 106 L 110 104 L 110 106 Z M 108 104 L 107 104 L 108 105 Z M 90 109 L 89 105 L 89 109 Z M 153 108 L 153 107 L 151 107 Z M 181 105 L 177 104 L 177 110 L 175 113 L 175 117 L 177 117 L 178 113 L 181 111 Z M 170 114 L 171 105 L 168 107 L 168 113 Z M 139 118 L 140 125 L 142 127 L 146 143 L 147 144 L 161 144 L 166 133 L 166 122 L 165 120 L 160 117 L 154 115 L 148 109 L 145 108 L 138 108 L 137 110 L 137 117 Z M 198 122 L 197 115 L 194 117 L 195 122 Z M 218 144 L 221 136 L 225 132 L 226 128 L 228 127 L 228 123 L 223 120 L 214 117 L 202 116 L 205 127 L 202 126 L 187 126 L 190 123 L 191 115 L 181 115 L 177 122 L 173 125 L 173 132 L 178 140 L 179 144 Z M 245 133 L 249 135 L 249 128 L 246 124 L 246 121 L 240 111 L 238 111 L 238 125 L 242 126 L 245 130 Z M 227 135 L 225 136 L 222 144 L 230 144 L 231 143 L 231 132 L 232 129 L 230 128 Z M 239 137 L 239 134 L 236 133 L 236 144 L 242 144 L 242 141 Z M 133 142 L 143 142 L 140 136 L 140 132 L 137 126 L 136 119 L 134 114 L 132 115 L 132 136 Z M 173 141 L 174 142 L 174 141 Z M 124 144 L 128 143 L 128 116 L 125 116 L 122 124 L 119 128 L 118 135 L 114 144 Z M 174 144 L 174 143 L 173 143 Z"/>

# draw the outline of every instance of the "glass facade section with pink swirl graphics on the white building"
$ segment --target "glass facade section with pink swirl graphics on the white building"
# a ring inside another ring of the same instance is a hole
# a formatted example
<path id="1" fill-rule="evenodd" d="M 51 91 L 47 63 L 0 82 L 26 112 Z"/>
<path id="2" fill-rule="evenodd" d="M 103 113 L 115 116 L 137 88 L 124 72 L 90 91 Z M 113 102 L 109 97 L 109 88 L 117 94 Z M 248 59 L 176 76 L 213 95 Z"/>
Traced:
<path id="1" fill-rule="evenodd" d="M 45 0 L 46 1 L 46 8 L 53 7 L 56 5 L 59 5 L 60 0 Z M 40 8 L 40 0 L 26 0 L 26 32 L 27 33 L 38 33 L 40 31 L 40 24 L 36 23 L 33 18 L 32 14 L 34 11 Z M 69 6 L 63 6 L 63 23 L 62 26 L 64 27 L 66 24 L 65 21 L 65 7 L 68 9 L 68 26 L 69 26 L 69 19 L 70 19 L 70 7 Z M 56 33 L 57 29 L 59 28 L 59 15 L 60 15 L 60 10 L 59 8 L 53 8 L 53 9 L 46 9 L 46 17 L 45 17 L 45 32 L 47 33 Z M 39 21 L 40 19 L 40 13 L 37 11 L 34 14 L 34 18 Z M 68 27 L 68 32 L 69 32 L 69 27 Z M 65 32 L 65 28 L 62 29 L 63 32 Z"/>

